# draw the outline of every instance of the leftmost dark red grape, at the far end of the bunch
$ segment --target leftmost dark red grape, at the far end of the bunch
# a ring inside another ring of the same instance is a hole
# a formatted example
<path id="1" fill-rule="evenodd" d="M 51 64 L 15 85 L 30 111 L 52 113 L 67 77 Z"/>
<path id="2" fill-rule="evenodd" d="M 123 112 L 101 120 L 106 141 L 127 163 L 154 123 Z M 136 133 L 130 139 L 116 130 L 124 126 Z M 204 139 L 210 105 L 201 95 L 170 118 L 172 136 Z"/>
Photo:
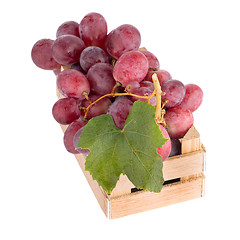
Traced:
<path id="1" fill-rule="evenodd" d="M 60 69 L 61 65 L 52 56 L 53 43 L 51 39 L 41 39 L 33 45 L 31 57 L 37 67 L 45 70 Z"/>

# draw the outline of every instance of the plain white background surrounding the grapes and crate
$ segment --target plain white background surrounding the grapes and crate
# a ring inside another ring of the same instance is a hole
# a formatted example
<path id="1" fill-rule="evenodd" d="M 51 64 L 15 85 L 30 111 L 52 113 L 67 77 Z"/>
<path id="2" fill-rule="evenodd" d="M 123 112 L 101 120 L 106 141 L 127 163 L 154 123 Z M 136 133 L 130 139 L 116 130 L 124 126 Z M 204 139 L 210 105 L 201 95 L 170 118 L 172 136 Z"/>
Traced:
<path id="1" fill-rule="evenodd" d="M 4 1 L 0 14 L 0 239 L 239 239 L 240 8 L 234 0 Z M 33 44 L 67 20 L 129 23 L 161 68 L 204 91 L 194 113 L 207 149 L 204 198 L 108 220 L 51 109 L 55 76 Z"/>

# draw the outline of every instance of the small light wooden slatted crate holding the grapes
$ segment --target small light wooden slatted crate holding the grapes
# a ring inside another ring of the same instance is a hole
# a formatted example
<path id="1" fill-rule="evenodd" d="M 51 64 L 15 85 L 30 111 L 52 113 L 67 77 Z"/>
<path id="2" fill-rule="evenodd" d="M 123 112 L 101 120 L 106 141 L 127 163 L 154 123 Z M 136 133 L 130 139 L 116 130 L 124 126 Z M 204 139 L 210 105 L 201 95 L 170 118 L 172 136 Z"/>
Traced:
<path id="1" fill-rule="evenodd" d="M 58 93 L 58 97 L 62 96 Z M 67 125 L 61 125 L 61 128 L 65 131 Z M 192 126 L 180 142 L 182 154 L 163 162 L 165 183 L 160 193 L 136 189 L 126 175 L 121 175 L 109 195 L 85 171 L 85 156 L 76 154 L 75 157 L 103 212 L 113 219 L 204 195 L 206 151 L 196 128 Z"/>

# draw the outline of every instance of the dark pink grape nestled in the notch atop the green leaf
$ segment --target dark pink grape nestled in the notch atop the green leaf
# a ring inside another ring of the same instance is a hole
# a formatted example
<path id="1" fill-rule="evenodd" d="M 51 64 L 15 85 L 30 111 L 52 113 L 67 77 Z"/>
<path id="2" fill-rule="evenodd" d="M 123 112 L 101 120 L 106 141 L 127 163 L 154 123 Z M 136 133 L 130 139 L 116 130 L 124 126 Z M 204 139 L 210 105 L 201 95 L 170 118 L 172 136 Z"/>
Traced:
<path id="1" fill-rule="evenodd" d="M 126 96 L 120 96 L 109 107 L 107 113 L 112 116 L 117 128 L 123 129 L 132 105 L 133 102 Z"/>

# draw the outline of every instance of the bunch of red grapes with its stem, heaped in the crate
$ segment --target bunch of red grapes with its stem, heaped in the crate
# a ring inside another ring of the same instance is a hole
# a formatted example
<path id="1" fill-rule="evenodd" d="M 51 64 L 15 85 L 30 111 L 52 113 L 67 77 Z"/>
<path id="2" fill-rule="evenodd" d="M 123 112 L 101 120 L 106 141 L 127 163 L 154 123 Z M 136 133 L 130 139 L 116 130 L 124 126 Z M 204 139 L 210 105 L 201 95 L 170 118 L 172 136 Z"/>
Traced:
<path id="1" fill-rule="evenodd" d="M 179 140 L 193 125 L 193 112 L 201 105 L 203 92 L 195 84 L 184 85 L 160 68 L 157 57 L 140 48 L 139 30 L 121 25 L 108 32 L 99 13 L 89 13 L 77 23 L 67 21 L 56 31 L 56 39 L 37 41 L 31 52 L 35 65 L 52 70 L 57 88 L 64 98 L 52 108 L 54 119 L 68 125 L 64 145 L 73 154 L 88 154 L 76 148 L 87 122 L 110 114 L 122 129 L 135 101 L 156 106 L 152 75 L 157 74 L 165 110 L 162 134 L 169 140 L 157 149 L 165 160 L 180 154 Z"/>

